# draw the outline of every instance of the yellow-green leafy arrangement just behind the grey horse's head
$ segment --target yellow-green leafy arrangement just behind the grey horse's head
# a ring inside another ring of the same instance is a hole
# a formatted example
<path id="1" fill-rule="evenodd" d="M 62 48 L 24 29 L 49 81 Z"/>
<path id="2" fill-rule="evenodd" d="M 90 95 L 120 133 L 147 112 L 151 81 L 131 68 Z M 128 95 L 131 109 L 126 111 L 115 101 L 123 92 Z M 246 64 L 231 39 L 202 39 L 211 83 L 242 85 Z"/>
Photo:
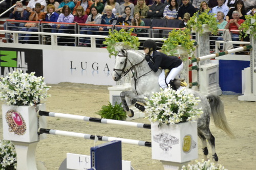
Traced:
<path id="1" fill-rule="evenodd" d="M 106 50 L 110 53 L 109 57 L 117 56 L 118 51 L 115 50 L 116 42 L 124 42 L 124 45 L 129 45 L 131 48 L 138 50 L 140 42 L 138 37 L 133 36 L 133 30 L 134 28 L 128 31 L 125 31 L 124 29 L 119 31 L 113 30 L 113 32 L 111 32 L 111 30 L 109 31 L 108 37 L 103 41 L 103 44 L 108 45 Z"/>

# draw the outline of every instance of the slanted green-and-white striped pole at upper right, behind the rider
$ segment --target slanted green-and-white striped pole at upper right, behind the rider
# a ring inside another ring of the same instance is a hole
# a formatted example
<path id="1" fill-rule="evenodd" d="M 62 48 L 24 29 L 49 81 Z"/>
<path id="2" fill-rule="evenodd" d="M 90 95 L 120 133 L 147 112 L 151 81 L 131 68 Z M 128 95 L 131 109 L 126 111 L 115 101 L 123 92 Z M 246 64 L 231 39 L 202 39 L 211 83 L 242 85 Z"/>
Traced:
<path id="1" fill-rule="evenodd" d="M 248 50 L 248 49 L 251 49 L 251 48 L 252 48 L 251 45 L 245 45 L 245 46 L 241 46 L 241 47 L 238 47 L 238 48 L 233 48 L 231 50 L 223 51 L 223 52 L 220 52 L 220 53 L 215 53 L 215 54 L 210 54 L 210 55 L 194 58 L 192 60 L 189 60 L 189 64 L 194 63 L 194 62 L 207 60 L 207 59 L 214 58 L 214 57 L 224 56 L 226 54 L 241 52 L 241 51 Z"/>

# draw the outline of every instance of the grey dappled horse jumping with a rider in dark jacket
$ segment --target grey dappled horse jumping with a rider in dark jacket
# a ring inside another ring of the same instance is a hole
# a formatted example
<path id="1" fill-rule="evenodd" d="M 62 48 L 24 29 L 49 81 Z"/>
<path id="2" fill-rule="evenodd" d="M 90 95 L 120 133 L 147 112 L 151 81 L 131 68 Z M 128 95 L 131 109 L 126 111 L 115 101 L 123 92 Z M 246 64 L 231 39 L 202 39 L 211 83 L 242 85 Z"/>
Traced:
<path id="1" fill-rule="evenodd" d="M 152 92 L 160 90 L 158 84 L 158 77 L 161 73 L 159 69 L 157 72 L 151 70 L 145 60 L 145 55 L 135 50 L 121 50 L 116 57 L 115 68 L 113 72 L 113 79 L 118 81 L 121 76 L 126 75 L 127 72 L 133 72 L 133 78 L 131 81 L 132 89 L 129 91 L 122 91 L 120 96 L 122 99 L 123 109 L 127 112 L 131 112 L 129 109 L 125 97 L 130 98 L 131 104 L 136 102 L 145 103 L 144 97 L 150 99 Z M 210 117 L 214 119 L 215 126 L 225 131 L 229 136 L 233 136 L 224 114 L 224 106 L 220 98 L 216 95 L 204 96 L 198 91 L 187 89 L 189 93 L 193 93 L 198 96 L 201 103 L 198 108 L 202 107 L 204 112 L 201 118 L 198 119 L 198 136 L 202 141 L 204 159 L 207 160 L 208 149 L 206 139 L 211 146 L 212 159 L 218 162 L 218 156 L 215 151 L 215 137 L 211 134 L 209 129 Z"/>

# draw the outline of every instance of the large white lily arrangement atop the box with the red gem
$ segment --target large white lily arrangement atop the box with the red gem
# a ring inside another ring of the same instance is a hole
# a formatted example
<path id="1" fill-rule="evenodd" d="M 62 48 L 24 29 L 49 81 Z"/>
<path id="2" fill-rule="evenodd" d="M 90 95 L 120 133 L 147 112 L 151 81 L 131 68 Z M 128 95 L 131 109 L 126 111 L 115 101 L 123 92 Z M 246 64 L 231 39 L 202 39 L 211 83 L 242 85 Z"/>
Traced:
<path id="1" fill-rule="evenodd" d="M 36 105 L 50 96 L 44 77 L 34 76 L 35 72 L 24 74 L 22 70 L 13 71 L 5 78 L 1 77 L 0 101 L 7 105 Z"/>

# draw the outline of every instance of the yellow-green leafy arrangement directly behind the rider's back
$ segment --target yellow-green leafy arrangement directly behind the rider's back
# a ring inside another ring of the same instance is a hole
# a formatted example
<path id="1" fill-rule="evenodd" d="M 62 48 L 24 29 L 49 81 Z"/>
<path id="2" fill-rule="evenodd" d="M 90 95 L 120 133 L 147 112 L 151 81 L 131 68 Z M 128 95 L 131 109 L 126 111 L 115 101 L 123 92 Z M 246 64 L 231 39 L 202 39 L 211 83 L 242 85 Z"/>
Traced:
<path id="1" fill-rule="evenodd" d="M 164 43 L 162 45 L 162 52 L 166 55 L 172 55 L 174 56 L 175 53 L 177 53 L 177 50 L 175 48 L 178 45 L 181 45 L 185 48 L 188 55 L 193 54 L 196 50 L 194 43 L 195 40 L 191 40 L 191 32 L 189 29 L 185 30 L 173 30 L 172 32 L 169 32 L 168 38 L 164 40 Z"/>

